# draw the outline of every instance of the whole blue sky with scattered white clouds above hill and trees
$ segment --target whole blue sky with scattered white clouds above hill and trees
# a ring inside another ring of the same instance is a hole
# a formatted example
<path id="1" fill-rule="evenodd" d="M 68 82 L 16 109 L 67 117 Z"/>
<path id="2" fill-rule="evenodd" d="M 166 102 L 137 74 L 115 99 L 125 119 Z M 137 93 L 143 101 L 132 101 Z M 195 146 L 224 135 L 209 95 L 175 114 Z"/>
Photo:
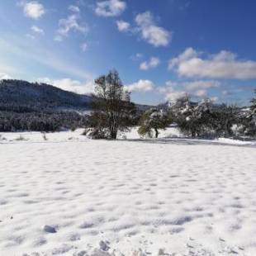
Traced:
<path id="1" fill-rule="evenodd" d="M 254 0 L 2 0 L 0 78 L 89 93 L 117 69 L 135 102 L 249 104 Z"/>

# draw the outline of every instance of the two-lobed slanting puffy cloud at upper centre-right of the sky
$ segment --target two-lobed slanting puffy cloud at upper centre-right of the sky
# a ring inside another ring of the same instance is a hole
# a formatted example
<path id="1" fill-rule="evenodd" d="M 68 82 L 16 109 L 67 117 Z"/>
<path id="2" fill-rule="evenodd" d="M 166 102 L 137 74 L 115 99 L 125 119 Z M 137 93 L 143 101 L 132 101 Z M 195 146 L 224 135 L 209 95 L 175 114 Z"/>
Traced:
<path id="1" fill-rule="evenodd" d="M 155 47 L 167 46 L 171 40 L 171 32 L 161 26 L 156 26 L 151 12 L 140 13 L 135 17 L 135 22 L 141 37 Z"/>

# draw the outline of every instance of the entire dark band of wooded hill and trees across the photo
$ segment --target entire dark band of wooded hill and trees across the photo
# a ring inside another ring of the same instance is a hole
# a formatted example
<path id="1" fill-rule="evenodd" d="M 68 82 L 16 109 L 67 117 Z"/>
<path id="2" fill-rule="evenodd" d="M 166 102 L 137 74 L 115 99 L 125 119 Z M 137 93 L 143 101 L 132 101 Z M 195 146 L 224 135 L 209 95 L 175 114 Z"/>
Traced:
<path id="1" fill-rule="evenodd" d="M 100 76 L 95 85 L 95 93 L 86 97 L 47 84 L 2 80 L 0 131 L 85 127 L 84 134 L 94 139 L 116 139 L 118 133 L 139 126 L 141 136 L 157 138 L 160 130 L 176 124 L 183 135 L 191 137 L 256 137 L 256 97 L 244 109 L 214 104 L 209 99 L 192 102 L 186 96 L 168 107 L 142 110 L 130 101 L 130 92 L 126 92 L 117 71 Z M 62 107 L 70 109 L 64 111 Z M 89 107 L 92 113 L 83 115 L 77 107 Z"/>

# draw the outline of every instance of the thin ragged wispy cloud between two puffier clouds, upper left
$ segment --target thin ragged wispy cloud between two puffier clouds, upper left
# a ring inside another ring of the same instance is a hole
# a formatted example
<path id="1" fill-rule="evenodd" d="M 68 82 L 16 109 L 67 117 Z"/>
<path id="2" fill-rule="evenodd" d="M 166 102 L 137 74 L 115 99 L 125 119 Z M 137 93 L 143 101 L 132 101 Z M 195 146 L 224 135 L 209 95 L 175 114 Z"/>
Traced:
<path id="1" fill-rule="evenodd" d="M 66 19 L 59 20 L 59 29 L 58 35 L 55 36 L 55 40 L 60 41 L 63 39 L 63 36 L 68 36 L 69 31 L 78 31 L 80 33 L 87 33 L 88 32 L 88 25 L 87 24 L 80 24 L 79 23 L 80 17 L 78 14 L 69 15 Z"/>

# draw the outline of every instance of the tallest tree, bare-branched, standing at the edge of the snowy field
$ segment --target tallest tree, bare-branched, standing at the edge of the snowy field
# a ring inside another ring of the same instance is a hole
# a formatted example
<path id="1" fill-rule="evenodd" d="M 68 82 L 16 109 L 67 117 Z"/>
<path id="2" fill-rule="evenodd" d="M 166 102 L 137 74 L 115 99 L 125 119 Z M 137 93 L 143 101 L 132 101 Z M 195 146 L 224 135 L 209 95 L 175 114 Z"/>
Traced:
<path id="1" fill-rule="evenodd" d="M 135 104 L 130 102 L 116 70 L 95 80 L 92 115 L 88 126 L 93 138 L 116 139 L 118 131 L 129 130 L 135 115 Z"/>

